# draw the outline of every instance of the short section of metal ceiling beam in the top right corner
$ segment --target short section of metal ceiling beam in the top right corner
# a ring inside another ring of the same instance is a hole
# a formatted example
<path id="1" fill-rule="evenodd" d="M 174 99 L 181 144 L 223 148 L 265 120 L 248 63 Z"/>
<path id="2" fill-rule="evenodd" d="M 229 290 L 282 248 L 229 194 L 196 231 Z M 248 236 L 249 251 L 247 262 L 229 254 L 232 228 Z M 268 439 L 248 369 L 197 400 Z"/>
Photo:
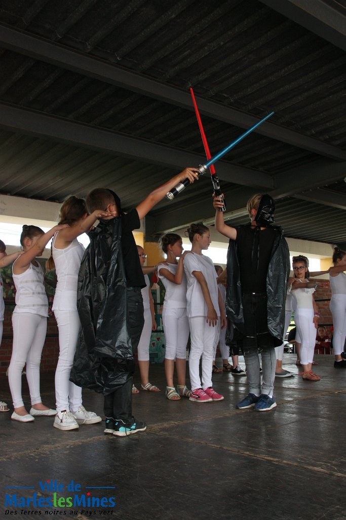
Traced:
<path id="1" fill-rule="evenodd" d="M 346 50 L 346 21 L 323 0 L 260 0 L 274 11 L 302 25 L 324 40 Z"/>

